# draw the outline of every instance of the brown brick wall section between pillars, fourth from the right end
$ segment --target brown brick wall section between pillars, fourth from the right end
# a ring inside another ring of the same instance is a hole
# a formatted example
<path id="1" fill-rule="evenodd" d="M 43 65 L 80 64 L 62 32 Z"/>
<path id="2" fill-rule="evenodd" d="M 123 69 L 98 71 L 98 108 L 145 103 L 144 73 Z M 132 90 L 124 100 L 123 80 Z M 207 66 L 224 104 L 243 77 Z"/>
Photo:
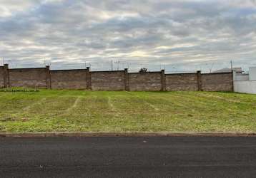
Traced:
<path id="1" fill-rule="evenodd" d="M 90 72 L 92 90 L 125 90 L 124 71 Z"/>

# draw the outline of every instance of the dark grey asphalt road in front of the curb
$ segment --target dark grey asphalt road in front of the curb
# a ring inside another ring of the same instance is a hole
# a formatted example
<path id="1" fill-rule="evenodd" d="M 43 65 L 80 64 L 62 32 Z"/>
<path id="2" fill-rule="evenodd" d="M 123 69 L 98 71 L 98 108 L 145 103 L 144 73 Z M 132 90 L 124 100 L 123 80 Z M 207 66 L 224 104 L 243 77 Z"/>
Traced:
<path id="1" fill-rule="evenodd" d="M 256 137 L 0 137 L 0 177 L 256 177 Z"/>

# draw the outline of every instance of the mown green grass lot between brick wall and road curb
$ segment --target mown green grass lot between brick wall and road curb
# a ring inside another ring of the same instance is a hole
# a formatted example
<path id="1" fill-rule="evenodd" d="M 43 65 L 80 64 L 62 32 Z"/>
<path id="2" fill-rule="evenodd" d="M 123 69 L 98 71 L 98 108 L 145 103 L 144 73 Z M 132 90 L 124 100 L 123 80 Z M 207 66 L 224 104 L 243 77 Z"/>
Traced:
<path id="1" fill-rule="evenodd" d="M 0 92 L 0 132 L 256 131 L 256 95 Z"/>

